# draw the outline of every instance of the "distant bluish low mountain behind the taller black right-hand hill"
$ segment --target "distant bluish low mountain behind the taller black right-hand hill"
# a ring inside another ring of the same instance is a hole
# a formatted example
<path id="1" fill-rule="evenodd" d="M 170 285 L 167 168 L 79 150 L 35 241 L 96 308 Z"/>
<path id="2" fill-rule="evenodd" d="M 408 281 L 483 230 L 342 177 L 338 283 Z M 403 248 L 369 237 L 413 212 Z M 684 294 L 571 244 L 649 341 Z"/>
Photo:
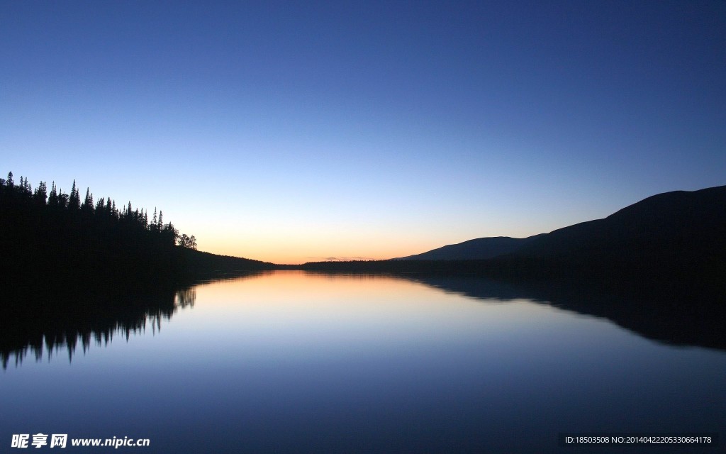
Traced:
<path id="1" fill-rule="evenodd" d="M 394 260 L 483 260 L 503 254 L 512 254 L 542 235 L 528 238 L 487 237 L 449 244 L 423 254 L 401 257 Z"/>

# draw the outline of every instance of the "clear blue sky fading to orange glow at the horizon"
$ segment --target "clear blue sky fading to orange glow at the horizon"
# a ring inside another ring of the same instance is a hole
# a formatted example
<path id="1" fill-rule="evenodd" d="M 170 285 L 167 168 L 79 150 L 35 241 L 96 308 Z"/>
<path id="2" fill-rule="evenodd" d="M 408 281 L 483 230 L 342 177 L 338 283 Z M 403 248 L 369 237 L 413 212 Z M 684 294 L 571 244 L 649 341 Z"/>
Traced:
<path id="1" fill-rule="evenodd" d="M 724 1 L 0 0 L 0 173 L 388 259 L 726 184 Z"/>

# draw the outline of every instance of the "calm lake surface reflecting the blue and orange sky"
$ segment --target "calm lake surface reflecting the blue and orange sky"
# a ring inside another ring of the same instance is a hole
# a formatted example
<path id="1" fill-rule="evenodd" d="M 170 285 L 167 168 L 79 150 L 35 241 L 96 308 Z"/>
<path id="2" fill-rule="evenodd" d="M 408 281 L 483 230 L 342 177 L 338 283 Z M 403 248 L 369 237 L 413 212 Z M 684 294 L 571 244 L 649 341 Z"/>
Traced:
<path id="1" fill-rule="evenodd" d="M 46 335 L 25 355 L 6 354 L 0 452 L 715 453 L 726 446 L 723 350 L 645 339 L 507 291 L 272 272 L 198 285 L 177 296 L 174 310 L 110 326 L 78 339 Z M 715 448 L 560 447 L 558 434 L 572 432 L 722 439 Z M 28 434 L 28 448 L 12 447 L 14 434 Z M 48 445 L 33 447 L 33 434 L 49 435 Z M 51 434 L 68 434 L 68 446 L 49 447 Z M 150 445 L 70 447 L 83 437 Z"/>

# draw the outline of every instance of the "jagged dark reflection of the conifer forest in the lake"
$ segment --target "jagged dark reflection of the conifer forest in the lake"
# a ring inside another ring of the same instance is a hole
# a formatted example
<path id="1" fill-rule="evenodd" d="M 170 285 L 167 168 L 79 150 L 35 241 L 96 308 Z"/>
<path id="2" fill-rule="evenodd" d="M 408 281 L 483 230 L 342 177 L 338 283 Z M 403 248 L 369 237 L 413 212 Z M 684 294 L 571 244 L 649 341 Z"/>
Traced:
<path id="1" fill-rule="evenodd" d="M 195 288 L 155 290 L 152 293 L 119 295 L 94 288 L 88 293 L 42 294 L 11 292 L 0 317 L 0 361 L 22 364 L 25 357 L 48 360 L 63 351 L 73 360 L 78 344 L 83 353 L 91 344 L 107 346 L 114 336 L 161 330 L 180 308 L 194 307 Z"/>

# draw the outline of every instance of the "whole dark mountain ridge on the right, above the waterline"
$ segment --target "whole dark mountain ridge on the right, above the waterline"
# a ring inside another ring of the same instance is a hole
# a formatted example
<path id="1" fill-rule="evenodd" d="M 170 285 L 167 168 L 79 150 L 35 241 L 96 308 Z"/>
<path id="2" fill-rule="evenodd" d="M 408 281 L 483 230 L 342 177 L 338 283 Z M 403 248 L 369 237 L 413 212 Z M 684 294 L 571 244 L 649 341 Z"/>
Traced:
<path id="1" fill-rule="evenodd" d="M 604 219 L 529 238 L 477 238 L 403 260 L 556 259 L 571 264 L 726 261 L 726 186 L 653 195 Z"/>

